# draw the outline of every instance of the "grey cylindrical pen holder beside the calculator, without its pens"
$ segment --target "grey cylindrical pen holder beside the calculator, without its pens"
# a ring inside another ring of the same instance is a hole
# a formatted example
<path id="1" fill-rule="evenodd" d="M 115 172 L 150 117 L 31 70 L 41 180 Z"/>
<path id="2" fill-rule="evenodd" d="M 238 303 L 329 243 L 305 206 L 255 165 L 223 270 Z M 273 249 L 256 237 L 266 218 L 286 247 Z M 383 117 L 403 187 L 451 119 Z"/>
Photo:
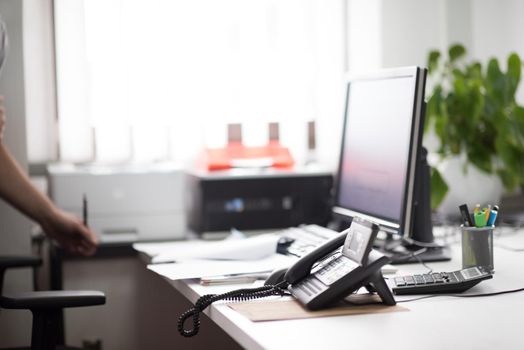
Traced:
<path id="1" fill-rule="evenodd" d="M 493 273 L 493 229 L 494 226 L 469 227 L 462 229 L 462 268 L 484 266 Z"/>

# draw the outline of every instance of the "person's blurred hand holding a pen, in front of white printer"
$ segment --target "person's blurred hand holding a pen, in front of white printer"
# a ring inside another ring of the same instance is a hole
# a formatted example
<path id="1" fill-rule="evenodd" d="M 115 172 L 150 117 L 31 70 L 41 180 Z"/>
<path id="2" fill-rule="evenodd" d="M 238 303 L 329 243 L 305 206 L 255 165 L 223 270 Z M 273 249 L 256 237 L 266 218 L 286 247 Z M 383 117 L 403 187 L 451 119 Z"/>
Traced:
<path id="1" fill-rule="evenodd" d="M 52 217 L 40 225 L 48 237 L 73 254 L 89 256 L 96 251 L 95 233 L 69 213 L 56 209 Z"/>

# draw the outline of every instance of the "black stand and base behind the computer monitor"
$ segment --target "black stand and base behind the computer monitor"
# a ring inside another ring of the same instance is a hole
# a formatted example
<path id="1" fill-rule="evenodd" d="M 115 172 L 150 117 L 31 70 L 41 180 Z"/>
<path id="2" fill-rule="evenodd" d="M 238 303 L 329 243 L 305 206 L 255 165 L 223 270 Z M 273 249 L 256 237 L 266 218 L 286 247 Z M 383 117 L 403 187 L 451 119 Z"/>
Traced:
<path id="1" fill-rule="evenodd" d="M 427 150 L 421 147 L 415 169 L 413 225 L 412 234 L 409 236 L 414 243 L 409 244 L 407 240 L 400 240 L 400 244 L 392 244 L 393 242 L 387 239 L 382 250 L 390 257 L 392 264 L 451 260 L 451 251 L 448 247 L 432 247 L 434 237 L 431 222 L 430 167 L 427 154 Z"/>

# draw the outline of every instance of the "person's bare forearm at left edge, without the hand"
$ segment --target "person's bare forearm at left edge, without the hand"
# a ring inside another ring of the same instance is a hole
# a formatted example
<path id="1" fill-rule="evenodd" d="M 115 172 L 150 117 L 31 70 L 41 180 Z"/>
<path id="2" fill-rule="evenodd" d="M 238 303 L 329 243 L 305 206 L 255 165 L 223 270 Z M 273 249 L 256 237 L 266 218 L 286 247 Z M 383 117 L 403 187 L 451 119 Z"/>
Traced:
<path id="1" fill-rule="evenodd" d="M 38 191 L 0 143 L 0 197 L 31 219 L 43 223 L 54 214 L 54 205 Z"/>

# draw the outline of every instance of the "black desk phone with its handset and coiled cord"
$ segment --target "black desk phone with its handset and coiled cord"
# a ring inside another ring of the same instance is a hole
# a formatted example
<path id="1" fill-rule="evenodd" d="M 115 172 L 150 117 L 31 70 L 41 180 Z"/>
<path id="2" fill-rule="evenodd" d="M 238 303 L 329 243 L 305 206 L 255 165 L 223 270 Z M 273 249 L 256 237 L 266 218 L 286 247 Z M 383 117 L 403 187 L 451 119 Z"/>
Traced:
<path id="1" fill-rule="evenodd" d="M 372 248 L 378 229 L 377 224 L 355 217 L 347 230 L 304 255 L 289 269 L 274 271 L 264 286 L 201 296 L 178 319 L 180 335 L 195 336 L 200 328 L 200 313 L 218 300 L 245 301 L 291 294 L 306 308 L 318 310 L 365 287 L 376 292 L 384 304 L 395 305 L 380 271 L 390 260 Z M 184 327 L 188 319 L 193 323 L 190 329 Z"/>

